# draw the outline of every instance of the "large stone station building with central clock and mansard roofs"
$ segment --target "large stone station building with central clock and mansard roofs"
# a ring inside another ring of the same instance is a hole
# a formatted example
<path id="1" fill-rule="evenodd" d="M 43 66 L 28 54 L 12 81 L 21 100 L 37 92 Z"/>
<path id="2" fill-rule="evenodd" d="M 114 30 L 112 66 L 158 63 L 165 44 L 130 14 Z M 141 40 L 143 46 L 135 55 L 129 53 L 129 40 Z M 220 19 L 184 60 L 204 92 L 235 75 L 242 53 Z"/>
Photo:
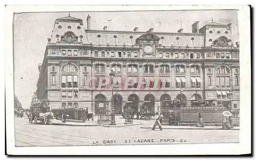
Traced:
<path id="1" fill-rule="evenodd" d="M 229 92 L 233 93 L 232 106 L 239 108 L 239 47 L 233 45 L 231 23 L 212 20 L 200 28 L 197 21 L 192 33 L 183 33 L 183 29 L 154 32 L 153 28 L 144 32 L 137 27 L 134 31 L 110 31 L 107 26 L 93 30 L 90 24 L 89 15 L 87 29 L 82 19 L 70 15 L 55 20 L 44 60 L 38 66 L 36 91 L 38 99 L 49 99 L 53 111 L 65 109 L 71 118 L 79 118 L 83 108 L 95 114 L 99 105 L 108 110 L 106 101 L 111 101 L 112 90 L 106 86 L 87 88 L 104 83 L 111 70 L 116 73 L 114 83 L 129 79 L 132 84 L 114 90 L 117 114 L 123 112 L 127 101 L 134 101 L 136 111 L 144 101 L 151 101 L 150 112 L 157 112 L 167 110 L 163 100 L 178 99 L 190 106 L 191 100 L 216 99 L 218 105 L 218 100 L 227 100 Z M 94 83 L 87 83 L 90 77 L 95 77 Z M 148 87 L 139 90 L 141 77 Z M 161 89 L 153 89 L 156 82 Z"/>

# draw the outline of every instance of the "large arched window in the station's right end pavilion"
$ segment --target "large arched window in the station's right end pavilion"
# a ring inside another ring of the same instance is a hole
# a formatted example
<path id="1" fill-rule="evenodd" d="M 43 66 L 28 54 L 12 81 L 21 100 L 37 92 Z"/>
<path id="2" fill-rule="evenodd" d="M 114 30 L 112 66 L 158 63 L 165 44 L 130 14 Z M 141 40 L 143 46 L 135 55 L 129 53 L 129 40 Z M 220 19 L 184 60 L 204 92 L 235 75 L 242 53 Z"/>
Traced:
<path id="1" fill-rule="evenodd" d="M 230 88 L 230 70 L 226 66 L 220 66 L 216 72 L 216 88 Z"/>

